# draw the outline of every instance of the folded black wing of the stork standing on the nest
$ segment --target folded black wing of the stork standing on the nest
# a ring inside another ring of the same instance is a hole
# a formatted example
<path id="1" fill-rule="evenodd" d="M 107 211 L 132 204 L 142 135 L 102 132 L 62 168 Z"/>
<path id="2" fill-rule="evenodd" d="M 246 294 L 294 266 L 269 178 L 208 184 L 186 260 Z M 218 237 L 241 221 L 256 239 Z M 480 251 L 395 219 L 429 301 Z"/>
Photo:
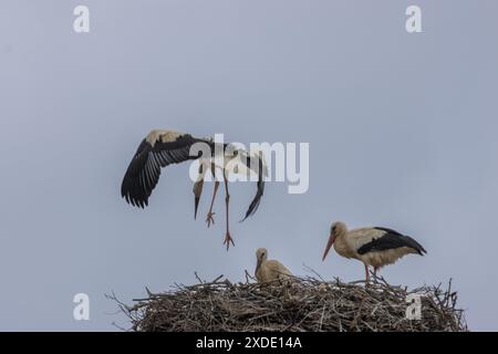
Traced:
<path id="1" fill-rule="evenodd" d="M 378 238 L 374 238 L 369 243 L 363 244 L 357 249 L 357 253 L 365 254 L 367 252 L 384 251 L 390 249 L 396 249 L 401 247 L 408 247 L 417 251 L 418 254 L 423 256 L 426 250 L 421 243 L 415 241 L 409 236 L 402 235 L 395 230 L 387 228 L 374 228 L 377 230 L 385 231 L 385 233 Z"/>

